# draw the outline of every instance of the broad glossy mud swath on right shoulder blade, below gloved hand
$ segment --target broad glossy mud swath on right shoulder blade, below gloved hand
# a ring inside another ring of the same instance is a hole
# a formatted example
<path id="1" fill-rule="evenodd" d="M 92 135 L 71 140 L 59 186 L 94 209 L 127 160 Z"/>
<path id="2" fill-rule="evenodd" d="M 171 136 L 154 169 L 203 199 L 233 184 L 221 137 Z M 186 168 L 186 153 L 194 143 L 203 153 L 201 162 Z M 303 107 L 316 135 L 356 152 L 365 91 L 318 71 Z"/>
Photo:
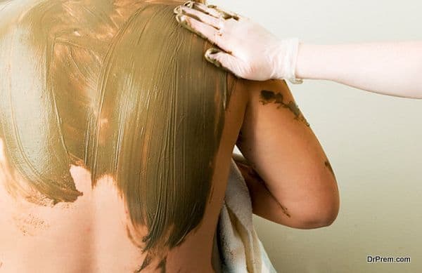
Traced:
<path id="1" fill-rule="evenodd" d="M 203 59 L 211 44 L 174 20 L 175 6 L 146 4 L 113 41 L 98 105 L 110 129 L 92 128 L 89 162 L 93 180 L 115 177 L 131 236 L 154 258 L 203 220 L 229 101 L 226 72 Z"/>

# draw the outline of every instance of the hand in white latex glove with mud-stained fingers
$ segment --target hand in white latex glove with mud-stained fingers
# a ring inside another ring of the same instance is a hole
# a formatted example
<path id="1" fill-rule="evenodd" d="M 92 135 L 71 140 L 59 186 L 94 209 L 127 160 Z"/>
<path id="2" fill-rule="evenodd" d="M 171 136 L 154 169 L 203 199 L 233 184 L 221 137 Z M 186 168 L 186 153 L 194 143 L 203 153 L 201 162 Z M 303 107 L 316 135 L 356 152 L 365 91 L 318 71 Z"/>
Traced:
<path id="1" fill-rule="evenodd" d="M 287 79 L 293 84 L 298 57 L 297 38 L 277 39 L 249 18 L 214 5 L 187 1 L 174 8 L 177 22 L 219 48 L 205 58 L 236 76 L 257 81 Z"/>

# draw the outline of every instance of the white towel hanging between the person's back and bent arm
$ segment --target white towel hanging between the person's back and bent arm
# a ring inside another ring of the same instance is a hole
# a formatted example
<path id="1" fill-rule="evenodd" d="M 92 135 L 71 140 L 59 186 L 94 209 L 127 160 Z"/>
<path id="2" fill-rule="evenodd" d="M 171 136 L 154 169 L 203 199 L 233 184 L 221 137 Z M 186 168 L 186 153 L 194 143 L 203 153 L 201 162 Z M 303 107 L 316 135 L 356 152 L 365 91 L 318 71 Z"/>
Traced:
<path id="1" fill-rule="evenodd" d="M 248 187 L 233 159 L 217 232 L 224 273 L 276 272 L 255 232 Z"/>

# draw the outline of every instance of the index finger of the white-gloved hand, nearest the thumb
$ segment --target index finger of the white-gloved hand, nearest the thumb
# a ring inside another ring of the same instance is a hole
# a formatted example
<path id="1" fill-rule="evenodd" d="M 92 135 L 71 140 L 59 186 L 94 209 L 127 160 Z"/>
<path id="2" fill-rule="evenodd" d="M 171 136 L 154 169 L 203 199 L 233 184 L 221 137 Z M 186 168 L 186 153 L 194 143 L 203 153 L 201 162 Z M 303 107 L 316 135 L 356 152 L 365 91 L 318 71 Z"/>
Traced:
<path id="1" fill-rule="evenodd" d="M 218 29 L 215 29 L 215 27 L 212 27 L 194 18 L 190 18 L 189 16 L 180 13 L 176 15 L 176 20 L 182 26 L 186 27 L 186 29 L 198 34 L 200 37 L 210 41 L 212 44 L 219 46 L 224 51 L 231 53 L 229 48 L 224 46 L 224 43 L 222 43 L 222 33 L 219 32 Z"/>

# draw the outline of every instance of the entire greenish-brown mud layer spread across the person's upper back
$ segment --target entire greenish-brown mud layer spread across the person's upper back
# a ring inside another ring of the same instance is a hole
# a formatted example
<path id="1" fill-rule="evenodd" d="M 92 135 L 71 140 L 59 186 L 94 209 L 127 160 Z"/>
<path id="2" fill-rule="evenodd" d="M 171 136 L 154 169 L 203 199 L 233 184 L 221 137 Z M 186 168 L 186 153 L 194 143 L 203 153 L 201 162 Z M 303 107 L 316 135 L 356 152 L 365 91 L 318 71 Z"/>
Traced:
<path id="1" fill-rule="evenodd" d="M 93 187 L 115 178 L 144 251 L 181 244 L 203 218 L 229 100 L 212 45 L 174 20 L 180 2 L 16 2 L 0 8 L 8 191 L 73 202 L 70 164 L 84 166 Z"/>

